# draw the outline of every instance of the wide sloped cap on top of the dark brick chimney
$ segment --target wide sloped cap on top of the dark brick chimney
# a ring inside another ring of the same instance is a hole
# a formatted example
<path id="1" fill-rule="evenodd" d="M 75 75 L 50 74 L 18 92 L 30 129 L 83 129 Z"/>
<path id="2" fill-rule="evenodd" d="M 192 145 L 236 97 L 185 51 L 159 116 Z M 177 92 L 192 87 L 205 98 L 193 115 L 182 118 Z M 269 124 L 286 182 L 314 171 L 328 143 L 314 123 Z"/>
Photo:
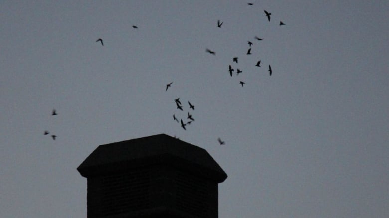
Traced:
<path id="1" fill-rule="evenodd" d="M 205 149 L 166 134 L 99 145 L 77 170 L 83 177 L 89 177 L 157 164 L 194 170 L 218 183 L 227 178 Z"/>

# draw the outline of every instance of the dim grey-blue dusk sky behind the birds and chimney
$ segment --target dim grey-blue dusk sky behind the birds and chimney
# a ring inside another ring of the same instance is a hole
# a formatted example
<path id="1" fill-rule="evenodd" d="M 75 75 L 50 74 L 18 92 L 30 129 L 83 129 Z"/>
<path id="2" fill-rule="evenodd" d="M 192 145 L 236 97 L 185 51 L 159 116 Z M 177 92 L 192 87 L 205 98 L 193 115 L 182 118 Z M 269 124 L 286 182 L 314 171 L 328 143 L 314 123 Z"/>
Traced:
<path id="1" fill-rule="evenodd" d="M 82 161 L 159 133 L 227 173 L 220 218 L 389 217 L 388 11 L 387 0 L 1 1 L 0 217 L 86 218 Z M 184 130 L 173 114 L 188 112 Z"/>

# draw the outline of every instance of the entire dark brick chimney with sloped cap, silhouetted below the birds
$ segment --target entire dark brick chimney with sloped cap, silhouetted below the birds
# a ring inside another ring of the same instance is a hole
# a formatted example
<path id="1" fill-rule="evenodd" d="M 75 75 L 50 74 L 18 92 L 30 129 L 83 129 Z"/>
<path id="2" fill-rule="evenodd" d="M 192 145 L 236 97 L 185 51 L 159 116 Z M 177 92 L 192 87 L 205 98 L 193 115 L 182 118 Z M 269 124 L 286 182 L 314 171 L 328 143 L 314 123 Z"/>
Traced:
<path id="1" fill-rule="evenodd" d="M 227 178 L 206 150 L 166 134 L 100 145 L 77 170 L 88 218 L 218 218 Z"/>

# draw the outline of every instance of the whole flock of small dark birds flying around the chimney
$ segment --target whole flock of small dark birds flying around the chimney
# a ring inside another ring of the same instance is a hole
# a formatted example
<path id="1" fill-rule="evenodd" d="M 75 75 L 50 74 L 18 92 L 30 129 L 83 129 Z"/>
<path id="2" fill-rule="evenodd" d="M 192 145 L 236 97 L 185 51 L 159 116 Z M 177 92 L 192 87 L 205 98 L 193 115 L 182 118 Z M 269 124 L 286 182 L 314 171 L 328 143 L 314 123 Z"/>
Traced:
<path id="1" fill-rule="evenodd" d="M 248 3 L 248 5 L 252 6 L 253 3 Z M 267 17 L 268 21 L 270 22 L 271 13 L 268 12 L 268 11 L 266 11 L 266 10 L 264 10 L 264 12 L 265 12 L 265 16 Z M 218 27 L 218 28 L 221 28 L 222 25 L 223 25 L 223 23 L 224 23 L 223 21 L 217 20 L 217 27 Z M 280 26 L 283 26 L 283 25 L 285 25 L 285 23 L 282 22 L 282 21 L 280 21 L 279 25 L 280 25 Z M 138 26 L 133 25 L 132 28 L 138 29 Z M 258 36 L 255 36 L 254 39 L 256 39 L 257 41 L 262 41 L 262 40 L 263 40 L 262 38 L 259 38 Z M 101 45 L 104 46 L 103 39 L 98 38 L 98 39 L 96 40 L 96 42 L 100 42 Z M 246 55 L 251 55 L 251 54 L 252 54 L 252 53 L 251 53 L 251 46 L 252 46 L 253 44 L 254 44 L 254 43 L 252 43 L 251 41 L 248 40 L 249 48 L 248 48 L 248 50 L 247 50 L 247 52 L 246 52 Z M 206 51 L 207 53 L 209 53 L 209 54 L 216 55 L 216 52 L 215 52 L 215 51 L 212 51 L 212 50 L 210 50 L 210 49 L 208 49 L 208 48 L 207 48 L 205 51 Z M 233 58 L 232 58 L 232 62 L 238 64 L 238 59 L 239 59 L 238 57 L 233 57 Z M 256 66 L 256 67 L 261 67 L 261 60 L 258 60 L 255 66 Z M 229 75 L 230 75 L 231 77 L 232 77 L 234 71 L 235 71 L 235 69 L 234 69 L 234 68 L 232 67 L 232 65 L 230 64 L 230 65 L 228 66 L 228 72 L 229 72 Z M 272 71 L 272 69 L 271 69 L 270 64 L 268 65 L 268 71 L 269 71 L 269 75 L 271 76 L 272 73 L 273 73 L 273 71 Z M 236 68 L 236 75 L 239 75 L 239 73 L 242 73 L 242 70 L 240 70 L 239 68 Z M 173 82 L 170 82 L 169 84 L 166 84 L 166 89 L 165 89 L 165 91 L 168 91 L 168 89 L 172 86 L 172 84 L 173 84 Z M 243 87 L 244 84 L 245 84 L 245 82 L 239 81 L 239 84 Z M 178 110 L 184 111 L 183 105 L 182 105 L 182 103 L 181 103 L 181 101 L 180 101 L 180 98 L 174 99 L 174 102 L 176 103 L 176 108 L 177 108 Z M 194 111 L 194 105 L 191 104 L 190 101 L 188 101 L 188 105 L 189 105 L 189 110 L 187 111 L 187 118 L 181 118 L 181 117 L 180 117 L 180 120 L 179 120 L 179 119 L 176 117 L 176 113 L 173 114 L 173 120 L 176 121 L 184 130 L 187 130 L 187 125 L 190 125 L 192 122 L 194 122 L 194 118 L 192 117 L 192 114 L 190 113 L 190 110 Z M 53 109 L 51 115 L 52 115 L 52 116 L 57 115 L 57 112 L 56 112 L 55 109 Z M 184 119 L 184 120 L 183 120 L 183 119 Z M 49 135 L 50 132 L 46 130 L 46 131 L 44 131 L 43 134 L 44 134 L 44 135 Z M 57 136 L 56 136 L 56 135 L 51 135 L 51 137 L 52 137 L 53 140 L 55 140 L 55 138 L 56 138 Z M 176 137 L 176 136 L 175 136 L 175 138 L 178 139 L 178 137 Z M 224 144 L 225 144 L 225 141 L 222 141 L 222 140 L 220 139 L 220 137 L 217 138 L 217 141 L 218 141 L 218 143 L 219 143 L 220 145 L 224 145 Z"/>

